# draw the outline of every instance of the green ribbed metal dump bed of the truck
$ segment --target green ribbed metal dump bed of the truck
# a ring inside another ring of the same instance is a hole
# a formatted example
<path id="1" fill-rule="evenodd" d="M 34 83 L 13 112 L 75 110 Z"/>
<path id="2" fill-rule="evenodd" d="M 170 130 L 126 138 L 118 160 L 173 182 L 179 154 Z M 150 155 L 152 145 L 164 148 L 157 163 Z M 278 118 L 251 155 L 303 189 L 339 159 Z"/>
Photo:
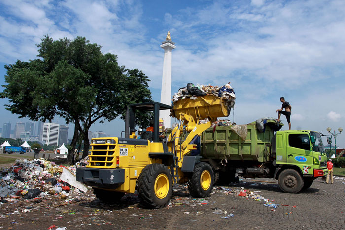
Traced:
<path id="1" fill-rule="evenodd" d="M 271 140 L 274 131 L 281 128 L 282 124 L 275 120 L 267 120 L 264 131 L 257 129 L 257 123 L 238 126 L 216 126 L 208 128 L 202 133 L 201 155 L 203 158 L 214 160 L 244 160 L 244 161 L 269 161 L 271 155 Z M 272 129 L 271 129 L 272 127 Z M 245 130 L 247 134 L 245 135 Z M 235 131 L 238 131 L 240 137 Z M 244 135 L 243 135 L 244 133 Z M 243 139 L 245 139 L 243 141 Z"/>

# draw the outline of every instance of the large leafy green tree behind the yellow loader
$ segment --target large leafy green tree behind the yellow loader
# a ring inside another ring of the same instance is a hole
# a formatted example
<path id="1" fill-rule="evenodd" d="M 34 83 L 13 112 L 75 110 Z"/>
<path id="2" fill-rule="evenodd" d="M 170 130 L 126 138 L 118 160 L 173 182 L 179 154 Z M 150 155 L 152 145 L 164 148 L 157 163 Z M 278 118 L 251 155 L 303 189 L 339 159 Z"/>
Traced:
<path id="1" fill-rule="evenodd" d="M 85 37 L 53 41 L 45 36 L 37 47 L 39 59 L 5 65 L 7 85 L 0 97 L 9 99 L 6 109 L 19 117 L 51 121 L 58 115 L 74 123 L 69 163 L 80 137 L 83 157 L 88 155 L 87 134 L 95 122 L 124 119 L 128 104 L 152 100 L 142 71 L 119 66 L 116 55 L 103 54 L 101 46 Z M 147 126 L 149 120 L 141 112 L 136 122 Z"/>

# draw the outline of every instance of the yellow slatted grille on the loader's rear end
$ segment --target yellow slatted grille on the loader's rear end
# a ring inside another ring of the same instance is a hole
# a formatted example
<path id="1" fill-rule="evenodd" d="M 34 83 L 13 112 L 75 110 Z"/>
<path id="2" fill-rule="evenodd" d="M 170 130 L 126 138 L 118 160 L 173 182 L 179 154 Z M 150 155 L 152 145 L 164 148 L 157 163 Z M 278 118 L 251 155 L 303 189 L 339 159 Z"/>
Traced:
<path id="1" fill-rule="evenodd" d="M 115 163 L 116 144 L 91 144 L 89 165 L 93 167 L 112 167 Z"/>

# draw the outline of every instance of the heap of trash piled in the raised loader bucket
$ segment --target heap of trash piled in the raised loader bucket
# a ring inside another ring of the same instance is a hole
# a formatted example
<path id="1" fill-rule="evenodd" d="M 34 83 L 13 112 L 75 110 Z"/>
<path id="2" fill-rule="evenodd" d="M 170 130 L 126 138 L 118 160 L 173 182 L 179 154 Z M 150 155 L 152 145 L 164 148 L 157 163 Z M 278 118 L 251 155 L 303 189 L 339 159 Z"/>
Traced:
<path id="1" fill-rule="evenodd" d="M 221 87 L 199 84 L 195 86 L 193 83 L 188 83 L 186 87 L 180 88 L 173 95 L 172 105 L 181 99 L 190 98 L 195 100 L 197 97 L 204 95 L 215 95 L 224 99 L 229 110 L 235 106 L 236 95 L 234 89 L 230 86 L 230 82 Z"/>

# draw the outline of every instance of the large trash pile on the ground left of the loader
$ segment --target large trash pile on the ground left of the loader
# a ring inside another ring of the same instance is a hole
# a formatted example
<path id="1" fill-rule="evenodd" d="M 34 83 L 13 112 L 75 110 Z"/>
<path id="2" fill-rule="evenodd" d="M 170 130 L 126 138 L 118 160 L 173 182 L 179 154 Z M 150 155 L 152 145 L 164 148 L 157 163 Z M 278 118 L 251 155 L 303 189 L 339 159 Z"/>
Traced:
<path id="1" fill-rule="evenodd" d="M 16 160 L 13 166 L 0 172 L 0 203 L 49 195 L 66 199 L 71 192 L 83 194 L 88 189 L 73 175 L 81 164 L 84 162 L 65 167 L 43 158 Z"/>

